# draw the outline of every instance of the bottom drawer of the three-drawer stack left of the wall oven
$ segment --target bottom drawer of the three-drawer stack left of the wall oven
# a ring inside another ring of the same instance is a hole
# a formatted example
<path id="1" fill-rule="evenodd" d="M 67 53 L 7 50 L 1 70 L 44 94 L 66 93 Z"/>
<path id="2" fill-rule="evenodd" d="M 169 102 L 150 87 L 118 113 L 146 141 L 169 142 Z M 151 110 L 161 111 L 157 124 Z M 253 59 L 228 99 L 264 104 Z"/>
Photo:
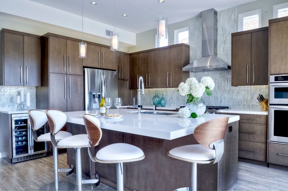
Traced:
<path id="1" fill-rule="evenodd" d="M 239 140 L 238 157 L 266 162 L 267 144 Z"/>

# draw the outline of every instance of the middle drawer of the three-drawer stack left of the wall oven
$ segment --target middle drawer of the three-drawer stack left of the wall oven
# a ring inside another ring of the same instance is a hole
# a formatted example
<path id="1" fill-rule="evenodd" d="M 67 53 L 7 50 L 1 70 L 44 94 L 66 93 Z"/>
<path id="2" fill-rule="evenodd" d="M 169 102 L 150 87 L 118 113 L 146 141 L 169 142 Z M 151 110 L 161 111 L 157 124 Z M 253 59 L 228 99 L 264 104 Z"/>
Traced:
<path id="1" fill-rule="evenodd" d="M 267 143 L 267 125 L 240 122 L 239 140 Z"/>

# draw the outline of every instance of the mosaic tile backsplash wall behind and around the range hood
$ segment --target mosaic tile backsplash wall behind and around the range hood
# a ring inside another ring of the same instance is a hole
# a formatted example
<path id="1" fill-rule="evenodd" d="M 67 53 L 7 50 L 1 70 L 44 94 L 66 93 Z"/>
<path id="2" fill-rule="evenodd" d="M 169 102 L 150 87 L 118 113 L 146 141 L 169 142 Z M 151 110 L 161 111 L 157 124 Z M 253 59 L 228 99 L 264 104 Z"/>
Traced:
<path id="1" fill-rule="evenodd" d="M 237 10 L 236 7 L 218 11 L 218 45 L 217 56 L 231 64 L 231 33 L 237 32 Z M 191 19 L 190 22 L 190 62 L 201 57 L 202 40 L 202 18 L 201 16 Z M 256 100 L 259 93 L 268 97 L 268 86 L 231 86 L 231 70 L 216 72 L 190 73 L 198 81 L 203 76 L 210 76 L 214 79 L 215 88 L 213 95 L 203 96 L 206 105 L 229 106 L 230 108 L 259 108 Z M 152 105 L 152 98 L 156 89 L 145 89 L 145 95 L 141 95 L 143 105 Z M 186 96 L 181 96 L 177 88 L 158 89 L 158 94 L 167 100 L 166 106 L 179 107 L 186 105 Z"/>

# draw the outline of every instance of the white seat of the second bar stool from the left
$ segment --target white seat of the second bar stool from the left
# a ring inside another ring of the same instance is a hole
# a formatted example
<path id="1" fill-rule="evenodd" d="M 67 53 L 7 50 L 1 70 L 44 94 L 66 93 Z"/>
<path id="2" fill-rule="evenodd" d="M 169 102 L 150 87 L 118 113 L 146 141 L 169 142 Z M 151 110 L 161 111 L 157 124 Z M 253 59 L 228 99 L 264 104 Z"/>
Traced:
<path id="1" fill-rule="evenodd" d="M 59 132 L 58 132 L 59 133 Z M 56 135 L 58 135 L 58 133 Z M 55 137 L 56 137 L 55 135 Z M 90 147 L 89 139 L 87 134 L 79 134 L 73 135 L 70 137 L 66 137 L 61 139 L 57 143 L 57 147 L 65 147 L 65 148 L 77 148 L 77 147 Z"/>

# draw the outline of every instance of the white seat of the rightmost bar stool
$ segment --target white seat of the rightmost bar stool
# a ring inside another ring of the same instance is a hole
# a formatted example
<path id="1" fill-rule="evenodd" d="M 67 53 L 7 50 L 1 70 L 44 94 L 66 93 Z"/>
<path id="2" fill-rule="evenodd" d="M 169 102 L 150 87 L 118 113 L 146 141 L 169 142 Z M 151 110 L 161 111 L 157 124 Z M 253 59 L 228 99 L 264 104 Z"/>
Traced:
<path id="1" fill-rule="evenodd" d="M 216 158 L 216 152 L 213 149 L 205 148 L 200 144 L 185 145 L 173 148 L 169 151 L 173 158 L 190 160 L 198 163 L 211 163 Z"/>

